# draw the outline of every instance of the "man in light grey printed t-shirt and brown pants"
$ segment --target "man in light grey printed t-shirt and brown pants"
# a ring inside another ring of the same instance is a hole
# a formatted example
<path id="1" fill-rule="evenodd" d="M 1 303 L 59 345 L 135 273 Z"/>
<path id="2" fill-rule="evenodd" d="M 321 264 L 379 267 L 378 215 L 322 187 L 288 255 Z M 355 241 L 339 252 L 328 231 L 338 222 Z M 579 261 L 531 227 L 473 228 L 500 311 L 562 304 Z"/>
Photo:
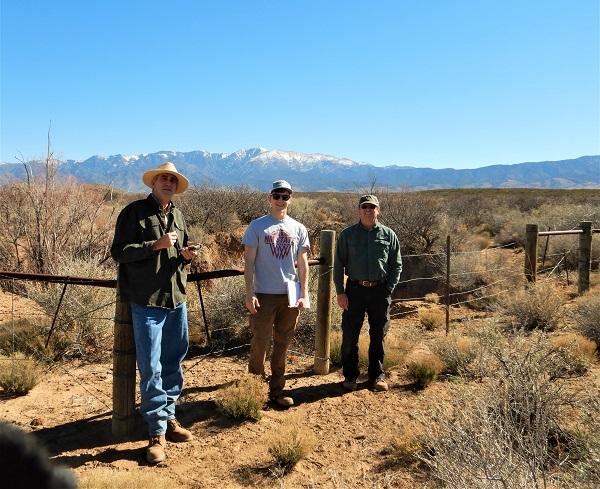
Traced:
<path id="1" fill-rule="evenodd" d="M 252 341 L 248 371 L 265 375 L 265 355 L 271 336 L 269 398 L 281 407 L 294 405 L 283 394 L 287 349 L 294 336 L 300 309 L 308 307 L 308 232 L 287 215 L 292 187 L 285 180 L 273 182 L 268 201 L 271 212 L 250 223 L 244 245 L 246 308 L 252 315 Z M 295 265 L 297 262 L 297 265 Z M 300 293 L 289 303 L 288 290 Z"/>

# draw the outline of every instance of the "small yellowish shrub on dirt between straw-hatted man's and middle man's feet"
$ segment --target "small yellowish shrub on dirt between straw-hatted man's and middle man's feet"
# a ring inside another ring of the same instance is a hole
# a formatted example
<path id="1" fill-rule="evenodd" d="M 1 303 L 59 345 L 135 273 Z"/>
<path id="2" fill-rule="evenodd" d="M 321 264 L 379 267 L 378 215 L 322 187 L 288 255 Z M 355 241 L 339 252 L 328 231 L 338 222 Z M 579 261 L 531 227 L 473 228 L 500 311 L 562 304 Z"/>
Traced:
<path id="1" fill-rule="evenodd" d="M 258 421 L 267 397 L 267 385 L 262 377 L 247 374 L 235 384 L 221 389 L 216 403 L 233 419 Z"/>

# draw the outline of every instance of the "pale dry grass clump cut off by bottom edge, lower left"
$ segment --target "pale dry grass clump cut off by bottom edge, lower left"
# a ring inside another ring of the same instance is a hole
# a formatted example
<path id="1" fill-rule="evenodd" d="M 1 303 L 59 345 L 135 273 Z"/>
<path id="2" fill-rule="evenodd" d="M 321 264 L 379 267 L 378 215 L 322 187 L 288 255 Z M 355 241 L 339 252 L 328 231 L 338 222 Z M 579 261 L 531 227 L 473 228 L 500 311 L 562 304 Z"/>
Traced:
<path id="1" fill-rule="evenodd" d="M 94 467 L 79 475 L 80 489 L 169 489 L 173 481 L 156 472 L 124 471 Z"/>

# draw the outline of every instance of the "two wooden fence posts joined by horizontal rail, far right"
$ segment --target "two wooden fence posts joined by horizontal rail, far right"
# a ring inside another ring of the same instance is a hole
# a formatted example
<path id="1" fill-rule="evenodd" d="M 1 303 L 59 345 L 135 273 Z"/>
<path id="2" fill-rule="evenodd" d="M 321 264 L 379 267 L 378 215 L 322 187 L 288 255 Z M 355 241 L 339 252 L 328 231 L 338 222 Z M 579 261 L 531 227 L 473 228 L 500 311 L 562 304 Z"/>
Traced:
<path id="1" fill-rule="evenodd" d="M 581 221 L 578 229 L 569 229 L 565 231 L 539 231 L 537 224 L 527 224 L 525 227 L 525 277 L 527 280 L 529 282 L 535 282 L 537 279 L 539 236 L 547 237 L 544 251 L 545 258 L 550 236 L 576 234 L 579 235 L 579 277 L 577 290 L 579 294 L 583 294 L 589 290 L 590 270 L 592 268 L 592 234 L 594 233 L 600 233 L 600 229 L 592 229 L 591 221 Z M 562 260 L 566 261 L 566 252 Z"/>

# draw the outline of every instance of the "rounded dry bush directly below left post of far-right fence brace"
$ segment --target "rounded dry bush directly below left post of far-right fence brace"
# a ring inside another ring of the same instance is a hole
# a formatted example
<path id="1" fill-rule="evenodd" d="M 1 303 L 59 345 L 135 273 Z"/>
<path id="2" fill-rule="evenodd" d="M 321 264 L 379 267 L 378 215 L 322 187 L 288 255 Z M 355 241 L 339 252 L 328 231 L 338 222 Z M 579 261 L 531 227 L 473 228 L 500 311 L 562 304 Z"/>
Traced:
<path id="1" fill-rule="evenodd" d="M 503 295 L 498 309 L 513 329 L 553 331 L 563 317 L 563 304 L 558 287 L 546 281 Z"/>

